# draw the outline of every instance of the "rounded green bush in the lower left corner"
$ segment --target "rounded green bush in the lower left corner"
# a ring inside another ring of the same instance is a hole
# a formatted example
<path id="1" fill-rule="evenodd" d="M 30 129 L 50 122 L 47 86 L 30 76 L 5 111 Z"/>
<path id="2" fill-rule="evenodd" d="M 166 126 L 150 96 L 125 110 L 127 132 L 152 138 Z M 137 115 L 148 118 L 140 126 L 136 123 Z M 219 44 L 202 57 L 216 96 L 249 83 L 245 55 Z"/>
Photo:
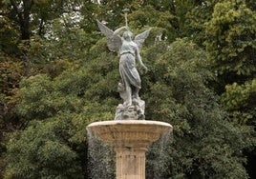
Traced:
<path id="1" fill-rule="evenodd" d="M 13 133 L 8 144 L 5 178 L 82 178 L 77 155 L 66 141 L 71 128 L 69 117 L 63 112 L 54 119 L 33 122 L 23 132 Z"/>

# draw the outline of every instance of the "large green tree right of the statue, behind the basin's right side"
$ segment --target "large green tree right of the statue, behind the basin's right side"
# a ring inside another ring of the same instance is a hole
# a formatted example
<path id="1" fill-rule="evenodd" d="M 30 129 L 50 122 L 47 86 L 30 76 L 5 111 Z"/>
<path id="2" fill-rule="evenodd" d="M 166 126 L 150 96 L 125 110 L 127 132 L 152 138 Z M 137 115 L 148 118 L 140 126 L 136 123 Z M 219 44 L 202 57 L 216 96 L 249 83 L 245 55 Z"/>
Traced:
<path id="1" fill-rule="evenodd" d="M 224 111 L 206 87 L 213 79 L 206 53 L 187 40 L 178 40 L 154 67 L 151 75 L 158 75 L 145 94 L 146 116 L 174 126 L 163 178 L 246 178 L 241 150 L 253 144 L 245 141 L 250 131 L 224 121 Z"/>

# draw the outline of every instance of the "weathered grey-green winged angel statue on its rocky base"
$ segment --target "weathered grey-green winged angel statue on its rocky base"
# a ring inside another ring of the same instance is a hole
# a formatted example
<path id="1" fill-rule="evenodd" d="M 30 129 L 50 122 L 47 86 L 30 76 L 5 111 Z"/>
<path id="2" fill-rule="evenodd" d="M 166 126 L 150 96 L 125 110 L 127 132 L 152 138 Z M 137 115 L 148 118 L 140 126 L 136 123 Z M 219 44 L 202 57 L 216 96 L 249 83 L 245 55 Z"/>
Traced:
<path id="1" fill-rule="evenodd" d="M 116 111 L 115 120 L 144 119 L 145 102 L 139 98 L 141 81 L 139 71 L 136 67 L 136 60 L 142 70 L 148 71 L 143 64 L 139 50 L 142 43 L 147 38 L 149 30 L 138 34 L 133 40 L 133 33 L 127 26 L 113 31 L 104 24 L 96 20 L 99 30 L 107 37 L 107 46 L 111 51 L 116 51 L 119 56 L 119 73 L 121 81 L 118 83 L 118 91 L 123 99 L 123 104 L 119 104 Z M 122 36 L 120 36 L 120 33 Z"/>

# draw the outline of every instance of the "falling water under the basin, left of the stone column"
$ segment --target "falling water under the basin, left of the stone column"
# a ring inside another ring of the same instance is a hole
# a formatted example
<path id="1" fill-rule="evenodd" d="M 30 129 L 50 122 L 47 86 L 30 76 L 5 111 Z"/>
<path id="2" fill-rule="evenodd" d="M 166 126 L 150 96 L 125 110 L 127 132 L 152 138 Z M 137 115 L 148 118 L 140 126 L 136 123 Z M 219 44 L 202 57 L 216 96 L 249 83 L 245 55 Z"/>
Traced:
<path id="1" fill-rule="evenodd" d="M 116 177 L 116 155 L 113 147 L 88 132 L 89 179 L 113 179 Z"/>

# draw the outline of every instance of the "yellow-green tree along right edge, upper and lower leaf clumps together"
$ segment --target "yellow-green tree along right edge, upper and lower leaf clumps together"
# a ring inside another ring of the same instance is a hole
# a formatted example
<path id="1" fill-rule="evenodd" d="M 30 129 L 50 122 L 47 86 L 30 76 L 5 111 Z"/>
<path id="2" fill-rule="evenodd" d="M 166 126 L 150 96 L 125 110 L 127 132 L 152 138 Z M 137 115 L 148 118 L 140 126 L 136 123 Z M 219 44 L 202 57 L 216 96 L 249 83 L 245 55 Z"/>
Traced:
<path id="1" fill-rule="evenodd" d="M 206 24 L 205 44 L 219 78 L 217 91 L 222 94 L 221 101 L 231 122 L 242 129 L 254 128 L 255 132 L 256 13 L 253 4 L 249 0 L 216 4 Z M 255 140 L 255 135 L 251 139 Z M 245 153 L 249 164 L 253 163 L 255 145 Z"/>

